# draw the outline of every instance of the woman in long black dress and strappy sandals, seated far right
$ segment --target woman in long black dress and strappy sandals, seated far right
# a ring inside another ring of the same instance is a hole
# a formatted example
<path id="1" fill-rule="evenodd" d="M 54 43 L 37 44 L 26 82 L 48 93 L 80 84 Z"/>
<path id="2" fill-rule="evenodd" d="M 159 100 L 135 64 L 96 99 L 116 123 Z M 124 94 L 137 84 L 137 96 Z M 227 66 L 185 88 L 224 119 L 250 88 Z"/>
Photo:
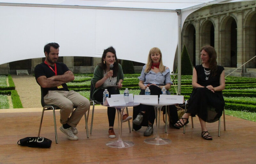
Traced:
<path id="1" fill-rule="evenodd" d="M 183 127 L 188 124 L 188 117 L 198 116 L 202 137 L 212 140 L 212 136 L 206 129 L 205 122 L 215 122 L 222 115 L 224 99 L 222 90 L 225 89 L 224 68 L 217 65 L 216 51 L 212 46 L 204 46 L 201 49 L 202 64 L 193 69 L 192 86 L 193 91 L 188 100 L 188 110 L 174 125 Z"/>

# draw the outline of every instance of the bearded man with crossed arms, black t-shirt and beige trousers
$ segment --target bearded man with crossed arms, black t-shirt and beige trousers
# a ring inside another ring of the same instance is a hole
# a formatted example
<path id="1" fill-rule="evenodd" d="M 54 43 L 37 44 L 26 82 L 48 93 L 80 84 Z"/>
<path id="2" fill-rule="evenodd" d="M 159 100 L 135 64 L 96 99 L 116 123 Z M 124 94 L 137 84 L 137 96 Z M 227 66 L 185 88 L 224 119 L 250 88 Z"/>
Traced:
<path id="1" fill-rule="evenodd" d="M 58 43 L 44 46 L 45 61 L 35 67 L 35 77 L 43 90 L 44 102 L 60 107 L 60 131 L 68 139 L 77 140 L 76 125 L 90 108 L 90 102 L 79 93 L 68 90 L 66 82 L 73 81 L 75 77 L 64 63 L 57 62 L 59 47 Z M 76 106 L 74 111 L 73 106 Z"/>

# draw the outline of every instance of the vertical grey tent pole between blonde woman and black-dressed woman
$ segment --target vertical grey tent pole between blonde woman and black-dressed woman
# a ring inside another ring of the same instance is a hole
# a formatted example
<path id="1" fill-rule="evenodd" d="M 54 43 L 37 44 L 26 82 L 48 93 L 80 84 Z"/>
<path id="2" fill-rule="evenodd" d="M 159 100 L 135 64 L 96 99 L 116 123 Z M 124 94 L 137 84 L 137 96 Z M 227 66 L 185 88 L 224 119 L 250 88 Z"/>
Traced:
<path id="1" fill-rule="evenodd" d="M 176 10 L 178 15 L 178 94 L 181 93 L 181 10 Z"/>

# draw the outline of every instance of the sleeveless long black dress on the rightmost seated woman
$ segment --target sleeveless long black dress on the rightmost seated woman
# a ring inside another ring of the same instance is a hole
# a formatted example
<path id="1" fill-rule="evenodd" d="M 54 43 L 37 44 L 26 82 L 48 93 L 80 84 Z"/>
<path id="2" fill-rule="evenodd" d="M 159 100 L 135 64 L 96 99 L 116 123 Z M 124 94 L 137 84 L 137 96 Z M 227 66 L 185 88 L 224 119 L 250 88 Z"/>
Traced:
<path id="1" fill-rule="evenodd" d="M 197 83 L 204 86 L 204 88 L 193 89 L 190 98 L 188 100 L 187 113 L 191 113 L 192 117 L 197 115 L 205 122 L 215 122 L 219 120 L 224 109 L 224 98 L 222 91 L 215 91 L 214 93 L 205 88 L 208 85 L 213 87 L 220 86 L 220 74 L 224 70 L 222 66 L 217 66 L 217 72 L 215 76 L 205 75 L 204 69 L 209 71 L 209 68 L 204 68 L 202 65 L 195 66 L 197 73 Z M 208 80 L 206 80 L 207 78 Z"/>

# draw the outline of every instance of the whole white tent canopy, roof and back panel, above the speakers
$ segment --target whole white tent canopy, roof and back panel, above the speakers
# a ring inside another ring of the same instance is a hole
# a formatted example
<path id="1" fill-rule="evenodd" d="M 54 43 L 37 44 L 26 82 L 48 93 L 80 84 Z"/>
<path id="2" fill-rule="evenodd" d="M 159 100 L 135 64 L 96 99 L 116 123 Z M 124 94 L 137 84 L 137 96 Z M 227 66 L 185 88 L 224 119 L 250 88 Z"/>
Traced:
<path id="1" fill-rule="evenodd" d="M 223 0 L 211 1 L 220 2 Z M 206 4 L 210 3 L 0 0 L 0 64 L 44 57 L 43 46 L 57 42 L 60 56 L 101 57 L 105 48 L 113 46 L 118 59 L 142 63 L 146 63 L 150 48 L 159 47 L 164 65 L 172 71 L 185 18 Z"/>

